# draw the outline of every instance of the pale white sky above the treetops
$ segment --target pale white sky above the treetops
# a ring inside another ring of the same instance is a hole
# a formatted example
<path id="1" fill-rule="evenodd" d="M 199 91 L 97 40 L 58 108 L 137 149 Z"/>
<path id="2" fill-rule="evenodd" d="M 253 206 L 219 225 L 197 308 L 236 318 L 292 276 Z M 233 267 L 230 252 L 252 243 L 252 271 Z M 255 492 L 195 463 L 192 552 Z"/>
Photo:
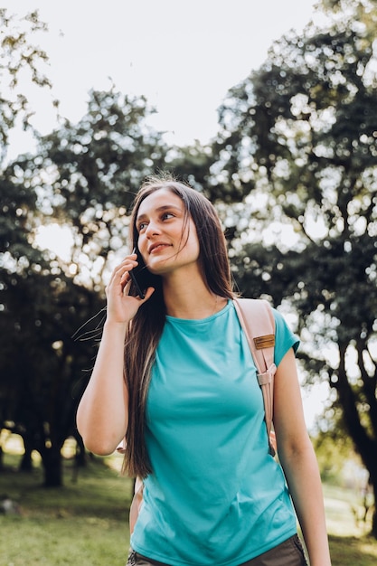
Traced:
<path id="1" fill-rule="evenodd" d="M 40 45 L 50 57 L 52 97 L 78 121 L 90 89 L 114 82 L 145 95 L 151 123 L 172 144 L 205 143 L 217 130 L 217 108 L 229 89 L 267 58 L 272 42 L 300 31 L 315 0 L 3 0 L 10 13 L 37 9 L 49 32 Z M 54 127 L 51 95 L 29 90 L 42 133 Z M 16 138 L 14 138 L 16 139 Z M 17 138 L 21 146 L 21 138 Z M 24 142 L 25 143 L 25 142 Z M 26 140 L 26 143 L 28 141 Z"/>

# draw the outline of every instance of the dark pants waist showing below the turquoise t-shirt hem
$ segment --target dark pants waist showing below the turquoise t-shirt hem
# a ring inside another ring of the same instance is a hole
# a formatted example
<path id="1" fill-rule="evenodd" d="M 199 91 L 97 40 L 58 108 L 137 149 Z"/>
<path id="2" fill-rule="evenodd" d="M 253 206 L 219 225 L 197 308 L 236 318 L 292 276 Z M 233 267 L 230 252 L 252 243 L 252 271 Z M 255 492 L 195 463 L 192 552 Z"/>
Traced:
<path id="1" fill-rule="evenodd" d="M 240 566 L 306 566 L 304 550 L 297 534 L 291 536 L 287 541 L 278 544 L 268 552 L 252 558 L 250 561 L 242 562 Z M 126 566 L 174 566 L 156 560 L 150 560 L 135 551 L 129 553 Z M 200 564 L 198 564 L 200 566 Z M 215 566 L 215 564 L 213 564 Z"/>

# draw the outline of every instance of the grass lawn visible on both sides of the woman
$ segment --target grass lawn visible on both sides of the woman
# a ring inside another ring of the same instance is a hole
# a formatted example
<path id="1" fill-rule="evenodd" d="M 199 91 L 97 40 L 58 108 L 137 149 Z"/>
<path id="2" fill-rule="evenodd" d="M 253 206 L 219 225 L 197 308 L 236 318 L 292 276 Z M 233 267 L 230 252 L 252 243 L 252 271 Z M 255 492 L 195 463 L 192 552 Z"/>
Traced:
<path id="1" fill-rule="evenodd" d="M 132 481 L 119 474 L 121 457 L 90 460 L 77 481 L 72 460 L 65 459 L 59 489 L 42 487 L 38 461 L 33 473 L 16 472 L 19 459 L 6 452 L 0 472 L 0 495 L 21 509 L 20 515 L 0 514 L 0 566 L 124 566 Z M 355 524 L 356 494 L 324 488 L 333 566 L 375 566 L 377 541 Z"/>

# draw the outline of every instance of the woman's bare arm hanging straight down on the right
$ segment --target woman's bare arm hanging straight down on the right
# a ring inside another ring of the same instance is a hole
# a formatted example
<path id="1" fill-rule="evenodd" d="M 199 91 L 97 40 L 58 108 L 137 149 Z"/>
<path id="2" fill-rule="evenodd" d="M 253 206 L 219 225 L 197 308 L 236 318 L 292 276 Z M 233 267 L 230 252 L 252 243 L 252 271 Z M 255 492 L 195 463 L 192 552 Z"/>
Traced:
<path id="1" fill-rule="evenodd" d="M 316 454 L 306 430 L 292 348 L 278 364 L 275 375 L 274 429 L 278 457 L 295 505 L 310 566 L 331 566 L 321 478 Z"/>

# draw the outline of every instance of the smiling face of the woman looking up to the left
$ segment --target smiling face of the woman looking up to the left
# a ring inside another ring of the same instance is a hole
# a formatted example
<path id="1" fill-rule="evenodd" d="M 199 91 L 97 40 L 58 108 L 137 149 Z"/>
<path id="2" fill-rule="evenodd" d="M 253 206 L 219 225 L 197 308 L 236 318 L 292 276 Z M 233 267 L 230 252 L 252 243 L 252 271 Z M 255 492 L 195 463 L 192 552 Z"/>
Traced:
<path id="1" fill-rule="evenodd" d="M 195 267 L 199 241 L 193 219 L 185 217 L 184 202 L 168 189 L 146 196 L 137 212 L 138 249 L 147 268 L 157 275 Z"/>

